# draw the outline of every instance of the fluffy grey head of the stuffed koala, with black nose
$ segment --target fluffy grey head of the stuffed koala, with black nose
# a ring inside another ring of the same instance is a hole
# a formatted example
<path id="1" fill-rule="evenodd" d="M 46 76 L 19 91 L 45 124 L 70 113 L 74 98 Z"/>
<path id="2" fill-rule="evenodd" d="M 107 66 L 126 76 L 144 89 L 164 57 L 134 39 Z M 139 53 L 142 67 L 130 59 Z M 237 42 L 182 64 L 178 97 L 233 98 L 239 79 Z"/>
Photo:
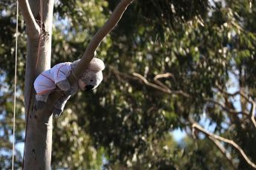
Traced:
<path id="1" fill-rule="evenodd" d="M 72 65 L 75 67 L 74 65 L 78 64 L 78 62 L 79 61 L 74 61 L 73 64 L 71 64 L 71 67 Z M 83 72 L 81 78 L 79 78 L 79 87 L 85 91 L 88 91 L 99 86 L 103 79 L 103 69 L 105 69 L 103 61 L 99 58 L 93 58 L 88 66 L 88 69 L 85 69 L 85 72 Z"/>

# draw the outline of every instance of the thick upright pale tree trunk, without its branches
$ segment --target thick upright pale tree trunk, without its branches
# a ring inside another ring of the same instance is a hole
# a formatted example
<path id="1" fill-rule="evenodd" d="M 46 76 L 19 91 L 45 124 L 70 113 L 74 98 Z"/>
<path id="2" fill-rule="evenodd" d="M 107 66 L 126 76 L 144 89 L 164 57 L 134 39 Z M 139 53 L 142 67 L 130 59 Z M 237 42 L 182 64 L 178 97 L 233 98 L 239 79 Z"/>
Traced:
<path id="1" fill-rule="evenodd" d="M 34 18 L 40 20 L 40 1 L 29 0 L 30 9 Z M 42 21 L 44 30 L 41 33 L 40 47 L 39 36 L 29 35 L 27 27 L 27 58 L 25 74 L 25 112 L 26 112 L 26 141 L 24 152 L 24 169 L 50 169 L 52 146 L 52 116 L 45 112 L 36 115 L 34 109 L 35 90 L 33 81 L 39 73 L 50 69 L 51 34 L 53 20 L 53 0 L 42 1 Z M 39 50 L 39 54 L 38 54 Z M 38 61 L 37 61 L 38 59 Z M 36 66 L 36 61 L 38 65 Z"/>

